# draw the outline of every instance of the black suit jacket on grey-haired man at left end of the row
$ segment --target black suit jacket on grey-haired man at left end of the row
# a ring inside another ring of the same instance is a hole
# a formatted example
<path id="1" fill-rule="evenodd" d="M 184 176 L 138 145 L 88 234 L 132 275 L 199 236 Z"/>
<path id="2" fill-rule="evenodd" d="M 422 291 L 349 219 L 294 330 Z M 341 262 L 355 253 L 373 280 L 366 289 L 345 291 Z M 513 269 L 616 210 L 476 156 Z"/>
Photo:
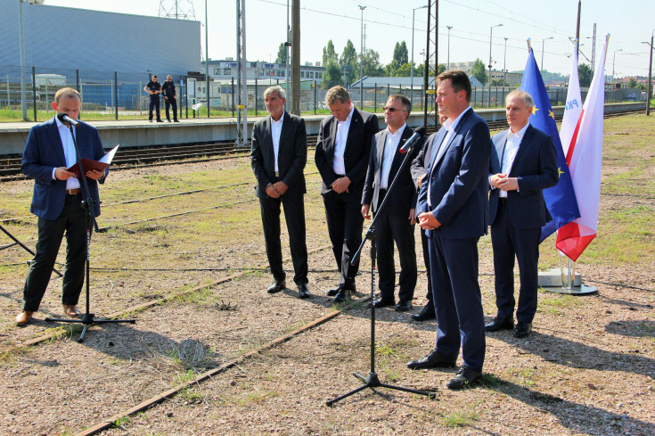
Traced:
<path id="1" fill-rule="evenodd" d="M 257 177 L 255 192 L 258 197 L 266 197 L 266 186 L 282 181 L 289 186 L 284 195 L 306 193 L 303 170 L 307 163 L 307 130 L 305 120 L 284 111 L 280 149 L 277 152 L 279 177 L 275 177 L 275 157 L 273 136 L 271 136 L 271 116 L 260 119 L 252 128 L 252 150 L 250 161 Z"/>

